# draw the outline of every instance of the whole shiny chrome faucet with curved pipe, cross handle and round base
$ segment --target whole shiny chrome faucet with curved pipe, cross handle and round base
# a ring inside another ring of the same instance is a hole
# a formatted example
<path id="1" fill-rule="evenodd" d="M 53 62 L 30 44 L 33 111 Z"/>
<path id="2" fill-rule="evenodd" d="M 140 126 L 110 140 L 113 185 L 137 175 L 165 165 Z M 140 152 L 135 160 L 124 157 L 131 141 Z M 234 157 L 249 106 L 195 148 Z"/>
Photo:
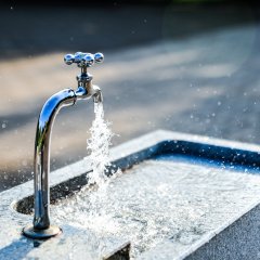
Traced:
<path id="1" fill-rule="evenodd" d="M 78 89 L 65 89 L 52 95 L 43 105 L 39 115 L 35 141 L 35 217 L 31 226 L 24 227 L 23 233 L 30 238 L 46 239 L 62 232 L 58 226 L 50 224 L 50 144 L 52 126 L 58 110 L 64 106 L 74 105 L 78 100 L 93 98 L 94 102 L 102 102 L 102 93 L 98 86 L 92 84 L 92 76 L 87 68 L 94 63 L 102 63 L 102 53 L 66 54 L 67 65 L 76 63 L 81 68 L 77 76 Z"/>

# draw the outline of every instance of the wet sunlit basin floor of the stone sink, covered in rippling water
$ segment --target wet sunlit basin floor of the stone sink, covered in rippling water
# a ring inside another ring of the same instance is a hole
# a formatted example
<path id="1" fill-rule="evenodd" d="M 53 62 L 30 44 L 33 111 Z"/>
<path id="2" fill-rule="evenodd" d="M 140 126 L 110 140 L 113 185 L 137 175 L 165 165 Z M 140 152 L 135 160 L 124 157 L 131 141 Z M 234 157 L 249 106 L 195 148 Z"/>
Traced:
<path id="1" fill-rule="evenodd" d="M 131 258 L 165 239 L 176 255 L 232 221 L 260 195 L 260 177 L 235 166 L 168 155 L 53 206 L 55 222 L 131 242 Z M 147 258 L 148 259 L 148 258 Z"/>

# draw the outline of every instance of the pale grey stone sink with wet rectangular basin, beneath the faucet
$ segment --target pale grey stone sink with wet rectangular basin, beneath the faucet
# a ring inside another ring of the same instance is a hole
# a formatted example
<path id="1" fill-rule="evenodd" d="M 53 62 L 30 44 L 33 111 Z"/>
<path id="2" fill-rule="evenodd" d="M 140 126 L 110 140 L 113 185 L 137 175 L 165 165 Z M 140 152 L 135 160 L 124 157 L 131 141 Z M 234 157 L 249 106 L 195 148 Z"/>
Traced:
<path id="1" fill-rule="evenodd" d="M 63 233 L 32 240 L 32 181 L 0 194 L 0 259 L 260 259 L 260 146 L 158 130 L 112 150 L 105 191 L 89 158 L 51 172 Z"/>

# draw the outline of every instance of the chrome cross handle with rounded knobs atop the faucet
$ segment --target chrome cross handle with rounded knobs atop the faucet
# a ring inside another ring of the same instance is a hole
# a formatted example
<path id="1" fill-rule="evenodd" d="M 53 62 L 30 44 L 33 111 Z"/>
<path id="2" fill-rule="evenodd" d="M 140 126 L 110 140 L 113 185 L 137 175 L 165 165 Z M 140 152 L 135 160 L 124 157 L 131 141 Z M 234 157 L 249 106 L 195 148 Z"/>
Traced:
<path id="1" fill-rule="evenodd" d="M 102 63 L 104 61 L 104 55 L 101 52 L 92 53 L 83 53 L 76 52 L 75 54 L 66 54 L 64 56 L 64 62 L 67 65 L 72 65 L 76 63 L 78 67 L 91 67 L 94 63 Z"/>

